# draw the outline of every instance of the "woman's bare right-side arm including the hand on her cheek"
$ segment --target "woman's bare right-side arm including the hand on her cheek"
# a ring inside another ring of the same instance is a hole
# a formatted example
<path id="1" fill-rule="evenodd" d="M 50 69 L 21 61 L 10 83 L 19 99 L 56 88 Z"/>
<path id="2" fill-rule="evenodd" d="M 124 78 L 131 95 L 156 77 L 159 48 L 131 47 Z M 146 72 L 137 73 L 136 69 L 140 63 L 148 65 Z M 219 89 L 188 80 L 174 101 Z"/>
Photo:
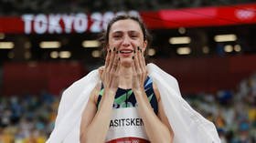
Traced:
<path id="1" fill-rule="evenodd" d="M 138 47 L 133 58 L 133 93 L 138 103 L 138 111 L 144 121 L 145 132 L 153 143 L 172 143 L 174 133 L 165 116 L 161 99 L 158 100 L 158 116 L 155 115 L 144 91 L 147 71 L 142 50 Z M 155 89 L 155 96 L 160 97 Z"/>

